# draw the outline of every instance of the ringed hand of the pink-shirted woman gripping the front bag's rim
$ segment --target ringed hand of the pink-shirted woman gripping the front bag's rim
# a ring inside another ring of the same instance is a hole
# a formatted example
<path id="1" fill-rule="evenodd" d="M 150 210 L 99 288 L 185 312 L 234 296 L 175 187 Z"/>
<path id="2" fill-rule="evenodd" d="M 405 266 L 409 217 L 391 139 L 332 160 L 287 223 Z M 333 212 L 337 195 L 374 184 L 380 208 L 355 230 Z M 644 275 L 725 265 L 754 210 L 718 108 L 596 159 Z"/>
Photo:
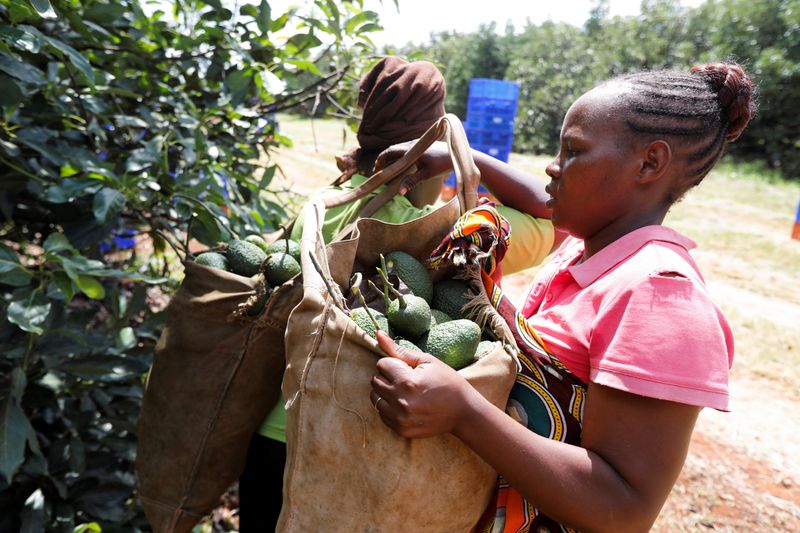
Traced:
<path id="1" fill-rule="evenodd" d="M 401 348 L 382 331 L 378 344 L 388 357 L 377 363 L 370 399 L 384 423 L 402 437 L 452 432 L 475 389 L 434 356 Z"/>

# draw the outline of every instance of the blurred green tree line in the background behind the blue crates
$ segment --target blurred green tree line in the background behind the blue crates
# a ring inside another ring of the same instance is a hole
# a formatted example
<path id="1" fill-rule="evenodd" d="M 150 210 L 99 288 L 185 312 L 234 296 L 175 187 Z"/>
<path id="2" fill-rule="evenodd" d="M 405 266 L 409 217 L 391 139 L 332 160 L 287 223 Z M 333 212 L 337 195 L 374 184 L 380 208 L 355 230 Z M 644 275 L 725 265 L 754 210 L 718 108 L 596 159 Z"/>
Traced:
<path id="1" fill-rule="evenodd" d="M 734 59 L 757 83 L 760 108 L 729 153 L 800 179 L 800 0 L 708 0 L 696 8 L 644 0 L 637 17 L 608 12 L 608 1 L 598 0 L 582 27 L 528 23 L 499 33 L 487 24 L 436 33 L 400 52 L 442 67 L 447 109 L 462 119 L 470 79 L 519 82 L 514 150 L 537 154 L 556 152 L 569 104 L 601 80 Z"/>

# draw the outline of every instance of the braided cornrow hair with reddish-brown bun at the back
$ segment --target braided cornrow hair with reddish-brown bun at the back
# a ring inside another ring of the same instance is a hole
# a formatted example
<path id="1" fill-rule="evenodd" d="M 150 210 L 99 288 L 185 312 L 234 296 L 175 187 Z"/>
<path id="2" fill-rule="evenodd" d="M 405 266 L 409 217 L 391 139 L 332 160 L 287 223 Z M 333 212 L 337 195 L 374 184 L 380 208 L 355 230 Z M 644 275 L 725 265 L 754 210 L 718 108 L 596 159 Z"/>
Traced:
<path id="1" fill-rule="evenodd" d="M 617 80 L 632 88 L 618 101 L 628 127 L 670 138 L 686 158 L 686 179 L 671 191 L 671 202 L 703 180 L 756 111 L 754 87 L 735 63 L 696 66 L 691 72 L 638 72 Z"/>

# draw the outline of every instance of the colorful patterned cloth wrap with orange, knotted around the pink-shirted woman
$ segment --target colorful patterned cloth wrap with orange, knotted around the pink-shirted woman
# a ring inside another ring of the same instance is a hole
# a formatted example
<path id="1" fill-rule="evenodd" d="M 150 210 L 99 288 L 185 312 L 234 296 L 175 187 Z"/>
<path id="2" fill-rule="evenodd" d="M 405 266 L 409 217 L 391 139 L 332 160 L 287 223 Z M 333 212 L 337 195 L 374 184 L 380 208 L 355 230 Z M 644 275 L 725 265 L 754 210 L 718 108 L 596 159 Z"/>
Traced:
<path id="1" fill-rule="evenodd" d="M 519 347 L 517 378 L 506 412 L 539 435 L 579 446 L 586 384 L 549 353 L 539 335 L 492 277 L 505 255 L 510 237 L 508 222 L 497 213 L 492 202 L 482 199 L 478 207 L 465 213 L 453 226 L 431 254 L 428 264 L 433 268 L 447 263 L 481 266 L 486 294 L 509 325 Z M 540 530 L 574 531 L 541 514 L 498 476 L 495 497 L 475 531 L 523 533 Z"/>

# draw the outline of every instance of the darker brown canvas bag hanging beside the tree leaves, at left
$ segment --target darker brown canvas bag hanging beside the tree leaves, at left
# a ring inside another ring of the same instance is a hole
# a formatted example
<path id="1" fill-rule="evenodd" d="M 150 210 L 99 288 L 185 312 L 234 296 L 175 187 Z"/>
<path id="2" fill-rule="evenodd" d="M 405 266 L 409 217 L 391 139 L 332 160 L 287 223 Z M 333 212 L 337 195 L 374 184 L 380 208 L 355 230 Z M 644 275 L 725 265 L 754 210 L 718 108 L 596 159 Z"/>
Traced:
<path id="1" fill-rule="evenodd" d="M 428 144 L 436 132 L 429 132 Z M 392 198 L 422 145 L 361 186 L 324 199 L 360 201 L 366 217 Z M 392 182 L 392 180 L 394 180 Z M 454 211 L 455 213 L 455 211 Z M 249 316 L 262 275 L 184 262 L 185 278 L 167 308 L 137 422 L 139 496 L 156 533 L 191 531 L 244 469 L 250 439 L 280 397 L 286 324 L 303 297 L 302 274 L 276 288 Z"/>

